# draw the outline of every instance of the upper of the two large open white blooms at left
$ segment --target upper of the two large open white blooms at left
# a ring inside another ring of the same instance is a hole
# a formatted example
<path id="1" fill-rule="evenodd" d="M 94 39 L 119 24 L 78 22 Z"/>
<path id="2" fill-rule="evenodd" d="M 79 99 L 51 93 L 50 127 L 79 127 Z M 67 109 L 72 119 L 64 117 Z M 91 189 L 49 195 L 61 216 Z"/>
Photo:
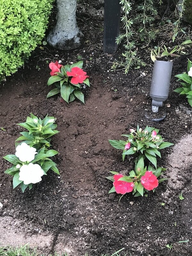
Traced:
<path id="1" fill-rule="evenodd" d="M 25 142 L 17 146 L 15 156 L 19 158 L 21 162 L 31 162 L 37 154 L 36 148 L 30 147 Z"/>

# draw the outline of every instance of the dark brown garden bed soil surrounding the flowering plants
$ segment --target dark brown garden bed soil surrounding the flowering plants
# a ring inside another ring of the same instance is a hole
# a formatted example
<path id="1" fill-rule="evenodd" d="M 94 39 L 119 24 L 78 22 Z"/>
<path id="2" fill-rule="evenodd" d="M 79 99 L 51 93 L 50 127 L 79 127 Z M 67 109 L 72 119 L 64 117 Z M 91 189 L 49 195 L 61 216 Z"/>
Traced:
<path id="1" fill-rule="evenodd" d="M 86 22 L 93 24 L 96 18 Z M 167 114 L 164 121 L 152 122 L 145 117 L 151 108 L 152 62 L 148 60 L 145 68 L 133 69 L 127 76 L 122 70 L 111 72 L 112 61 L 121 49 L 114 56 L 102 52 L 101 25 L 102 17 L 94 26 L 86 24 L 82 30 L 89 28 L 89 34 L 82 48 L 74 52 L 37 48 L 25 67 L 1 86 L 0 126 L 6 131 L 0 131 L 0 245 L 29 243 L 45 254 L 56 250 L 69 256 L 85 252 L 100 256 L 123 247 L 123 253 L 132 256 L 189 256 L 192 152 L 186 148 L 192 141 L 188 135 L 192 110 L 173 90 L 178 87 L 174 75 L 186 71 L 192 54 L 173 59 L 169 98 L 164 103 Z M 77 56 L 84 60 L 84 70 L 90 75 L 85 105 L 79 101 L 62 103 L 60 96 L 46 99 L 53 88 L 46 84 L 50 72 L 46 61 L 62 60 L 65 64 L 77 61 Z M 24 122 L 30 112 L 41 118 L 47 113 L 57 118 L 60 133 L 53 137 L 52 147 L 59 151 L 54 160 L 60 176 L 50 171 L 22 194 L 20 188 L 12 189 L 12 178 L 4 174 L 10 164 L 2 157 L 14 154 L 14 142 L 22 131 L 17 123 Z M 108 139 L 120 139 L 137 124 L 160 129 L 166 140 L 176 144 L 174 149 L 163 149 L 158 160 L 167 168 L 165 176 L 170 180 L 148 197 L 127 194 L 118 202 L 119 195 L 108 195 L 112 182 L 105 177 L 109 171 L 128 173 L 133 161 L 122 162 L 121 151 L 112 148 Z M 178 197 L 181 192 L 182 201 Z M 189 242 L 178 243 L 184 240 Z M 170 252 L 167 244 L 173 245 Z"/>

